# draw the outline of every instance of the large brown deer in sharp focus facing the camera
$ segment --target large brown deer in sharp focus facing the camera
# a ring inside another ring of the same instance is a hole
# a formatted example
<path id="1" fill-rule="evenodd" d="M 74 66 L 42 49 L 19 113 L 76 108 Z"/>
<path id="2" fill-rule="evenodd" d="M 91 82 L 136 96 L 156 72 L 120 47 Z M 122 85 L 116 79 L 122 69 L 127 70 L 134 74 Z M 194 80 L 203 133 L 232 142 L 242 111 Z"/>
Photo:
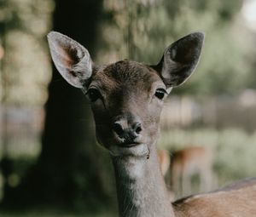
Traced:
<path id="1" fill-rule="evenodd" d="M 255 179 L 171 203 L 160 172 L 160 112 L 172 88 L 195 71 L 203 33 L 172 43 L 157 65 L 119 60 L 97 66 L 70 37 L 51 31 L 48 42 L 62 77 L 90 100 L 96 140 L 112 159 L 120 217 L 256 216 Z"/>

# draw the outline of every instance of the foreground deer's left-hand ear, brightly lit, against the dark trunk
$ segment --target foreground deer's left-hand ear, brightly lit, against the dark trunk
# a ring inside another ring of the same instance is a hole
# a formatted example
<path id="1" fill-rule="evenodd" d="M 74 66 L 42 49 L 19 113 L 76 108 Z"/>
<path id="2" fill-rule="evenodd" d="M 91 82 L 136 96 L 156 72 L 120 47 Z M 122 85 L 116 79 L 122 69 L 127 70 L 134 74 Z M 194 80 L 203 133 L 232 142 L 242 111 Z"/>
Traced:
<path id="1" fill-rule="evenodd" d="M 84 88 L 84 83 L 92 74 L 90 54 L 81 44 L 59 32 L 47 35 L 49 50 L 57 70 L 68 83 L 76 88 Z"/>

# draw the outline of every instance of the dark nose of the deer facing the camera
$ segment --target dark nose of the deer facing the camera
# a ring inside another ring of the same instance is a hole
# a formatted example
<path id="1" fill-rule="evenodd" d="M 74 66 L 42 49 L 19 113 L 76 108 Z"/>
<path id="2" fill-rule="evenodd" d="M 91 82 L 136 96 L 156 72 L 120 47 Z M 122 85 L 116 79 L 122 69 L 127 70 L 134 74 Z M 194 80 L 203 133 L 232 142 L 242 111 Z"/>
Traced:
<path id="1" fill-rule="evenodd" d="M 127 124 L 125 121 L 116 121 L 113 123 L 113 132 L 115 132 L 119 138 L 125 139 L 125 142 L 132 142 L 142 132 L 142 124 L 139 122 Z"/>

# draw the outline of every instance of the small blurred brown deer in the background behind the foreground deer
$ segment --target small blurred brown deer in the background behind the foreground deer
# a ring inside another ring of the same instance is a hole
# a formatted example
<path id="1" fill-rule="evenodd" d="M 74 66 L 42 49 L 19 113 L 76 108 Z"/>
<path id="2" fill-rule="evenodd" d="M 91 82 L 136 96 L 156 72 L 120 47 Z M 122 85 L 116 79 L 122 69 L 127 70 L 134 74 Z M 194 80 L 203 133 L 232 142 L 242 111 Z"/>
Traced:
<path id="1" fill-rule="evenodd" d="M 210 191 L 215 186 L 212 171 L 213 152 L 205 146 L 189 146 L 169 153 L 159 151 L 160 168 L 172 197 L 193 193 L 193 177 L 199 177 L 199 191 Z"/>

